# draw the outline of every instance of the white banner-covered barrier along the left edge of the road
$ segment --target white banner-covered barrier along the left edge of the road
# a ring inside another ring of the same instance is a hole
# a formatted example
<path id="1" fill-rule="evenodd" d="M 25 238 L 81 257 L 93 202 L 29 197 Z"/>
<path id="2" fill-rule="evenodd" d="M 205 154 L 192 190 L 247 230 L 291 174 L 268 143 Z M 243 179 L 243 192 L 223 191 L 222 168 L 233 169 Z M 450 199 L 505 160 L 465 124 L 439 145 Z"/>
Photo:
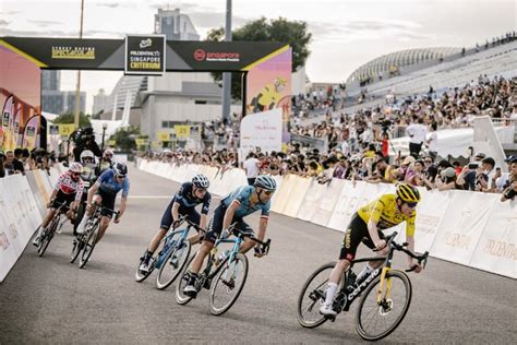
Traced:
<path id="1" fill-rule="evenodd" d="M 16 263 L 41 223 L 62 166 L 0 179 L 0 283 Z M 50 174 L 50 175 L 49 175 Z"/>

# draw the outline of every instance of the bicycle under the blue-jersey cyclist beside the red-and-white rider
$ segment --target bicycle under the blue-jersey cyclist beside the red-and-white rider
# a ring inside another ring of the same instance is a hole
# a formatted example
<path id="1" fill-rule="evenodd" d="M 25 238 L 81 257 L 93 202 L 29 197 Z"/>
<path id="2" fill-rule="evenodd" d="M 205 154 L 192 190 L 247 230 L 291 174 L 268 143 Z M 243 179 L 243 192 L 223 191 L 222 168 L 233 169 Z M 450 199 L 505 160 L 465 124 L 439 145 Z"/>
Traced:
<path id="1" fill-rule="evenodd" d="M 94 214 L 86 221 L 84 234 L 79 235 L 73 240 L 72 253 L 70 254 L 70 263 L 73 263 L 77 257 L 81 254 L 79 260 L 79 267 L 83 269 L 92 255 L 99 231 L 100 219 L 103 218 L 103 211 L 108 211 L 115 214 L 116 217 L 119 216 L 119 213 L 104 207 L 94 205 Z"/>

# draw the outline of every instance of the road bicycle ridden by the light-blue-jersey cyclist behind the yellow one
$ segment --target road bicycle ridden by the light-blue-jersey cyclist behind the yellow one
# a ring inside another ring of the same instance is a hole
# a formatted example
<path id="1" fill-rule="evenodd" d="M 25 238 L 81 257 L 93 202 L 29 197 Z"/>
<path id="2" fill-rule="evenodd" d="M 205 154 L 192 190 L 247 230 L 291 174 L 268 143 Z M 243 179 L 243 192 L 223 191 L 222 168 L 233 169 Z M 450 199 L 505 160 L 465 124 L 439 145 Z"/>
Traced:
<path id="1" fill-rule="evenodd" d="M 233 234 L 235 238 L 227 238 L 228 234 Z M 262 246 L 261 252 L 266 255 L 269 252 L 270 239 L 266 241 L 258 240 L 253 233 L 243 233 L 232 224 L 226 234 L 216 240 L 214 248 L 208 254 L 205 269 L 197 277 L 194 287 L 197 292 L 202 288 L 211 292 L 211 312 L 220 316 L 228 311 L 239 298 L 248 277 L 248 257 L 239 252 L 244 238 L 250 238 Z M 216 257 L 218 246 L 221 243 L 232 243 L 231 250 L 225 251 Z M 176 286 L 176 301 L 179 305 L 187 305 L 193 297 L 183 294 L 183 288 L 190 279 L 190 273 L 187 267 L 190 266 L 193 255 L 185 266 L 181 279 Z"/>

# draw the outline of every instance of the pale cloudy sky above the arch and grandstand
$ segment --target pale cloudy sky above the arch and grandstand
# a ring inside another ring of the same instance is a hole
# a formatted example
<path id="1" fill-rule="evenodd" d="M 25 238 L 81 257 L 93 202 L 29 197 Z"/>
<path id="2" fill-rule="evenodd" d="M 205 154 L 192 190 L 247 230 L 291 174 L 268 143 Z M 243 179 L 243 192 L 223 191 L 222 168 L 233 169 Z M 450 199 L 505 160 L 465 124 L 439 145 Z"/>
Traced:
<path id="1" fill-rule="evenodd" d="M 84 38 L 149 34 L 158 8 L 188 14 L 202 38 L 224 26 L 226 0 L 85 0 Z M 471 47 L 516 31 L 515 1 L 497 0 L 232 0 L 233 28 L 265 16 L 305 21 L 312 33 L 306 74 L 339 83 L 363 63 L 412 48 Z M 0 36 L 79 37 L 81 0 L 0 0 Z M 122 72 L 83 72 L 86 110 L 99 88 L 110 93 Z M 61 90 L 76 73 L 61 72 Z"/>

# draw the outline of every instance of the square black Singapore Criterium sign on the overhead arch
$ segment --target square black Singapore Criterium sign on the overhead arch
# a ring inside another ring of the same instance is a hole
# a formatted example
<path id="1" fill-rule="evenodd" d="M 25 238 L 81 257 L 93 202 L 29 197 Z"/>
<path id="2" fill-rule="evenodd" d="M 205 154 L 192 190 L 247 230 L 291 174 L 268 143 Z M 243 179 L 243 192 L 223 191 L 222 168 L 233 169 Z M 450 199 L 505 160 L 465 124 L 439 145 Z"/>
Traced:
<path id="1" fill-rule="evenodd" d="M 165 35 L 127 35 L 124 74 L 164 74 L 165 45 Z"/>

